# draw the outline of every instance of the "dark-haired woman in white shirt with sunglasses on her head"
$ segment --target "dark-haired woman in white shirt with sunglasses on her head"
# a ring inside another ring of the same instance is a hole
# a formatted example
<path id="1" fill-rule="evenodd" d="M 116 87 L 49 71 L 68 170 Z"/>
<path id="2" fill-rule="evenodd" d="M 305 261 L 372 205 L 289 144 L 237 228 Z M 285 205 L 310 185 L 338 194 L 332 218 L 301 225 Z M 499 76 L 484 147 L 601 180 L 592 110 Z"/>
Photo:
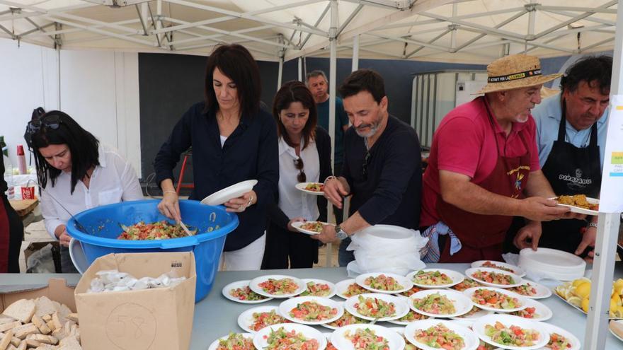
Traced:
<path id="1" fill-rule="evenodd" d="M 62 272 L 77 272 L 67 248 L 69 213 L 143 199 L 139 179 L 118 151 L 100 144 L 64 112 L 35 117 L 24 138 L 35 154 L 45 228 L 61 245 Z"/>

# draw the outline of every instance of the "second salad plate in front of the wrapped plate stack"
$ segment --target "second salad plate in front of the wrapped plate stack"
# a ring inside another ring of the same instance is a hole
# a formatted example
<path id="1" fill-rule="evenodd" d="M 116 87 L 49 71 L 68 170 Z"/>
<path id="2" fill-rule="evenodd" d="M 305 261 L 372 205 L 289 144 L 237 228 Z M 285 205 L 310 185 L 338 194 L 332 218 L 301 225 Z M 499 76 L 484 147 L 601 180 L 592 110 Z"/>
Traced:
<path id="1" fill-rule="evenodd" d="M 404 298 L 381 293 L 364 293 L 346 299 L 344 308 L 357 317 L 370 321 L 396 320 L 408 313 Z"/>

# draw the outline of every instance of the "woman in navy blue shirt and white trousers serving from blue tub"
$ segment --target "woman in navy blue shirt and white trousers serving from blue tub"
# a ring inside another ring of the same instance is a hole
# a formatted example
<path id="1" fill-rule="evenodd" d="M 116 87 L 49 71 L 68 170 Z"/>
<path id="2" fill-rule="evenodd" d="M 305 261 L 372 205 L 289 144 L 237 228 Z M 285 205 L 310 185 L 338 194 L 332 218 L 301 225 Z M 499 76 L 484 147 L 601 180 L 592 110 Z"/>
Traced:
<path id="1" fill-rule="evenodd" d="M 225 241 L 225 269 L 259 269 L 265 245 L 266 209 L 275 202 L 279 181 L 277 126 L 260 109 L 258 65 L 241 45 L 217 47 L 207 60 L 205 101 L 196 103 L 173 127 L 156 155 L 156 182 L 163 190 L 162 214 L 181 219 L 173 187 L 173 168 L 193 147 L 195 188 L 190 199 L 244 180 L 257 185 L 224 205 L 238 213 L 240 224 Z"/>

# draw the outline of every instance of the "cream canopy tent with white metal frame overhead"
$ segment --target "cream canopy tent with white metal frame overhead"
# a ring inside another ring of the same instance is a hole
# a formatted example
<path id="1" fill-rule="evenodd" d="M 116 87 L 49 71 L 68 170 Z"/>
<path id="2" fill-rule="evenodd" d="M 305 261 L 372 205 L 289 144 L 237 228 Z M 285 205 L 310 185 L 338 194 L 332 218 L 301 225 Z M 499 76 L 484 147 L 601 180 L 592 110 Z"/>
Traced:
<path id="1" fill-rule="evenodd" d="M 238 42 L 256 59 L 413 59 L 487 64 L 505 54 L 615 50 L 623 91 L 623 0 L 0 0 L 0 37 L 56 49 L 208 55 Z M 617 25 L 618 24 L 618 25 Z M 299 67 L 301 66 L 299 61 Z M 299 76 L 301 70 L 299 69 Z M 278 83 L 280 83 L 280 78 Z M 329 122 L 334 134 L 334 123 Z M 604 349 L 619 226 L 600 214 L 585 349 Z"/>

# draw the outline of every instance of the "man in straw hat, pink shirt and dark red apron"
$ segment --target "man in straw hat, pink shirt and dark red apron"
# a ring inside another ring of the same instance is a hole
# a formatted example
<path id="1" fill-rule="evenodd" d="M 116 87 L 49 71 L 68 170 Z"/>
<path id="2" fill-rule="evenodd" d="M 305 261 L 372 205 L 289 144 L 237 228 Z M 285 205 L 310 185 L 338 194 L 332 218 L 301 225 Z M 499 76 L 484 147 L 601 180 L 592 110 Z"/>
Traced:
<path id="1" fill-rule="evenodd" d="M 433 136 L 420 219 L 430 238 L 425 262 L 499 260 L 513 216 L 530 220 L 520 234 L 535 248 L 541 221 L 568 216 L 547 199 L 554 192 L 530 115 L 542 84 L 560 74 L 543 76 L 539 59 L 523 54 L 497 59 L 487 72 L 484 96 L 450 111 Z"/>

